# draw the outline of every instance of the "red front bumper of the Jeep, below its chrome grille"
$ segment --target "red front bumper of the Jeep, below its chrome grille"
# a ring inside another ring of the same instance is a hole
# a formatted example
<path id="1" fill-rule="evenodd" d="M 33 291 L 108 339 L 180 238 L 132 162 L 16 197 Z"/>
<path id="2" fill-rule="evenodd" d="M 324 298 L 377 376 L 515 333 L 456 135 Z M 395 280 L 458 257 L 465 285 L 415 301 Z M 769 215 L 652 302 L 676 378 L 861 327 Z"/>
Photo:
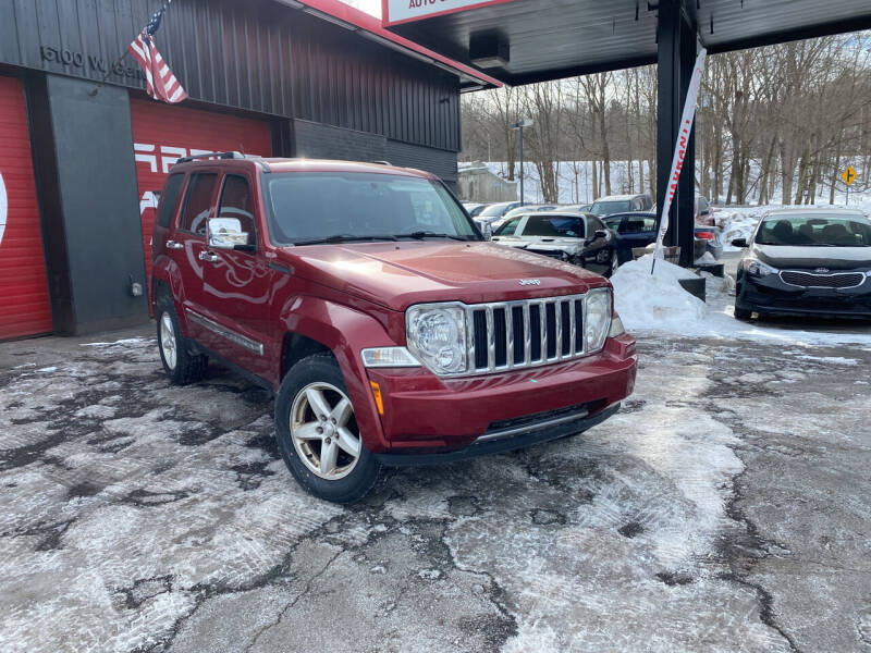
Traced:
<path id="1" fill-rule="evenodd" d="M 602 415 L 605 419 L 610 407 L 631 394 L 636 369 L 635 338 L 626 334 L 608 338 L 592 356 L 483 377 L 441 379 L 420 368 L 370 369 L 369 379 L 381 389 L 380 423 L 388 443 L 387 451 L 373 453 L 388 464 L 402 464 L 396 456 L 434 461 L 576 433 Z"/>

